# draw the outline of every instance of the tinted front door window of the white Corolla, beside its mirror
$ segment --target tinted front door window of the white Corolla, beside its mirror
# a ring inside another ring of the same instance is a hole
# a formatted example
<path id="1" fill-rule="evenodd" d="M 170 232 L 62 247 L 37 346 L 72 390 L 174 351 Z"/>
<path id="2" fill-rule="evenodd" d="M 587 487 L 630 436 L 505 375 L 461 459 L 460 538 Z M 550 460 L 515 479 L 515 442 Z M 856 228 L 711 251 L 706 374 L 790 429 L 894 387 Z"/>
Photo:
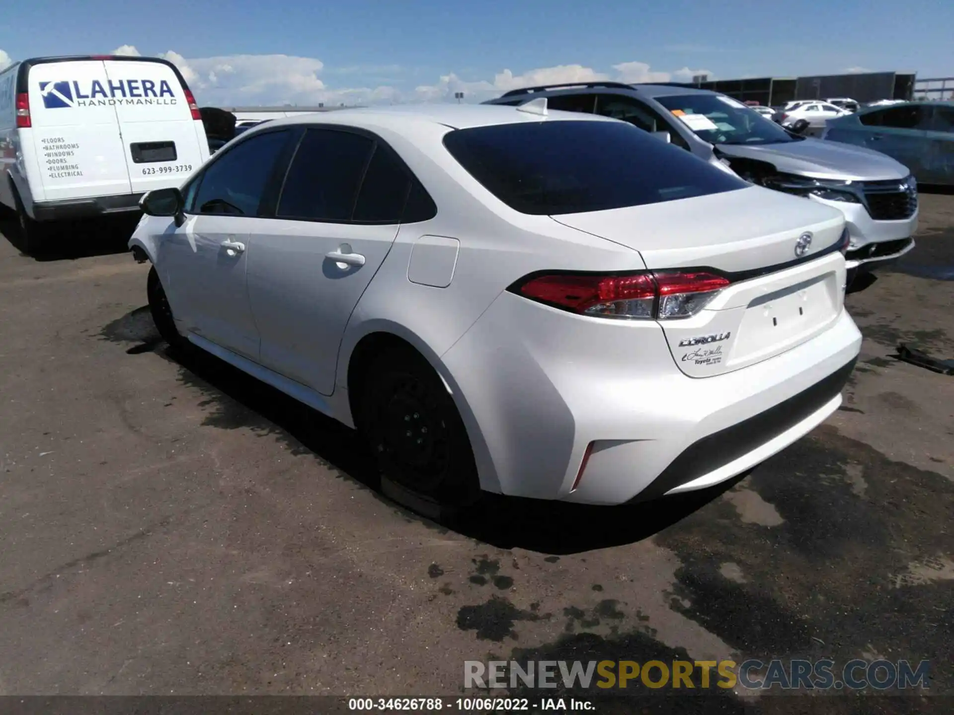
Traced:
<path id="1" fill-rule="evenodd" d="M 259 215 L 262 194 L 288 136 L 287 130 L 258 134 L 219 154 L 186 188 L 188 213 Z"/>

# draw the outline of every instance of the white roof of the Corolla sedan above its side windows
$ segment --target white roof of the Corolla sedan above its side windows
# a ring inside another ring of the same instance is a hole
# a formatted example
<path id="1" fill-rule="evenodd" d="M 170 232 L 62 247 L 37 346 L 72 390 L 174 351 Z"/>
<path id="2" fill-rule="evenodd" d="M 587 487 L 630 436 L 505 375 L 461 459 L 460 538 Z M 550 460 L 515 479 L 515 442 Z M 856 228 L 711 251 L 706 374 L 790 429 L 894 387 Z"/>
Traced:
<path id="1" fill-rule="evenodd" d="M 544 119 L 559 121 L 614 121 L 597 114 L 578 112 L 548 112 L 547 116 L 520 111 L 516 107 L 487 104 L 431 104 L 363 107 L 313 114 L 298 114 L 272 119 L 269 125 L 344 124 L 349 126 L 377 126 L 398 129 L 414 122 L 429 122 L 449 129 L 487 127 L 495 124 L 515 124 Z"/>

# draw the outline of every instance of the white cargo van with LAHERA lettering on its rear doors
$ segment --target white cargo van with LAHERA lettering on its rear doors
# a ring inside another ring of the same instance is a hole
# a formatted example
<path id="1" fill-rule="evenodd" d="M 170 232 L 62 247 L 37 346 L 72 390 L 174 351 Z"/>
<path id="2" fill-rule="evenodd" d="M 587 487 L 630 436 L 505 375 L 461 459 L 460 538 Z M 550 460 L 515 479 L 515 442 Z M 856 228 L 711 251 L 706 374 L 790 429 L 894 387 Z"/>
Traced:
<path id="1" fill-rule="evenodd" d="M 166 60 L 39 57 L 0 72 L 0 204 L 28 252 L 56 221 L 137 212 L 208 157 L 196 100 Z"/>

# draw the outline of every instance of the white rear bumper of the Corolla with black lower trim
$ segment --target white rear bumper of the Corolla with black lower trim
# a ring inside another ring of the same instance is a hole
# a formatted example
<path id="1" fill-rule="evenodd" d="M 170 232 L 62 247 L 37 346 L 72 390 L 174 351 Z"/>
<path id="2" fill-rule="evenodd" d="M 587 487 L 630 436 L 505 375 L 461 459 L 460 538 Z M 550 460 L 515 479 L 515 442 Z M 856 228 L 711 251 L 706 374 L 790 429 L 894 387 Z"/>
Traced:
<path id="1" fill-rule="evenodd" d="M 485 489 L 618 504 L 701 489 L 784 449 L 838 408 L 860 348 L 842 311 L 781 355 L 690 378 L 655 322 L 505 294 L 443 361 Z"/>

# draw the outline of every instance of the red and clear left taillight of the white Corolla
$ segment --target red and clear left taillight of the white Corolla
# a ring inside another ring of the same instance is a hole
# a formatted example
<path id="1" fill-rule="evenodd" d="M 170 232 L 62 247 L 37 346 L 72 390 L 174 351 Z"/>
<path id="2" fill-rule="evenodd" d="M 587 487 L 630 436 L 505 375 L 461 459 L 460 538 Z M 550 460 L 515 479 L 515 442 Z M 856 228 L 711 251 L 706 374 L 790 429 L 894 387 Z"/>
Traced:
<path id="1" fill-rule="evenodd" d="M 695 316 L 727 285 L 728 278 L 701 272 L 553 273 L 529 276 L 509 290 L 581 316 L 662 320 Z"/>

